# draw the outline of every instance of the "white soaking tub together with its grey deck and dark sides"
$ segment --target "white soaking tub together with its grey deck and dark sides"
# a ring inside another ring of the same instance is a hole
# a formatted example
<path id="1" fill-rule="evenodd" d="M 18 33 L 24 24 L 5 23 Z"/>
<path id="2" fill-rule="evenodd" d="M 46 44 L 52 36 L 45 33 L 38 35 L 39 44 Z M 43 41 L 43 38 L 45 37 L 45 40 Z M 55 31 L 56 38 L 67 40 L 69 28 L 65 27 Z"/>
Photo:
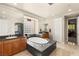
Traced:
<path id="1" fill-rule="evenodd" d="M 27 39 L 28 51 L 35 56 L 49 55 L 55 48 L 55 41 L 48 41 L 39 37 L 31 37 Z"/>

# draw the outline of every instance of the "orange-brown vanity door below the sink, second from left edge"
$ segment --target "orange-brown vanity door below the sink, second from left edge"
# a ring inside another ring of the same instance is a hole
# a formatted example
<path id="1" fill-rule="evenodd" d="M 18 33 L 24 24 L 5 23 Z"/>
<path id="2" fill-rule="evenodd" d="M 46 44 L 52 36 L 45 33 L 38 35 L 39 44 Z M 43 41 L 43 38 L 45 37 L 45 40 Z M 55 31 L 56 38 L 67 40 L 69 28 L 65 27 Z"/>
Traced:
<path id="1" fill-rule="evenodd" d="M 11 40 L 7 40 L 3 42 L 3 55 L 4 56 L 8 56 L 8 55 L 12 55 L 12 41 Z"/>

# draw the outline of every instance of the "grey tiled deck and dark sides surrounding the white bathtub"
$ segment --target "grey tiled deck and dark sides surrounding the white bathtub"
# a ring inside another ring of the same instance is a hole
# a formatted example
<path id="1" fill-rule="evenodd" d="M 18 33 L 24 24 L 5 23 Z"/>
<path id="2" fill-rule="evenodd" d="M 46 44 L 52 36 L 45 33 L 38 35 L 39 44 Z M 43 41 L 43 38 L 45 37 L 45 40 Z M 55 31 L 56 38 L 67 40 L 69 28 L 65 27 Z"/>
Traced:
<path id="1" fill-rule="evenodd" d="M 48 56 L 56 49 L 56 41 L 50 41 L 46 44 L 38 44 L 27 40 L 27 50 L 34 56 Z"/>

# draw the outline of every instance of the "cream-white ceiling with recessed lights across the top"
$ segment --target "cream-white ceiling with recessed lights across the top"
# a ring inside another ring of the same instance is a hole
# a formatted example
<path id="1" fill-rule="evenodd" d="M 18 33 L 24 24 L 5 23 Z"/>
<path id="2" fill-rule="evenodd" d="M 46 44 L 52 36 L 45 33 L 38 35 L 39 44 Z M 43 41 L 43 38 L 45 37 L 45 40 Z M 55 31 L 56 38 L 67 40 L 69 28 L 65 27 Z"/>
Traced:
<path id="1" fill-rule="evenodd" d="M 79 3 L 9 3 L 9 5 L 48 18 L 79 13 Z M 1 8 L 0 8 L 1 9 Z"/>

